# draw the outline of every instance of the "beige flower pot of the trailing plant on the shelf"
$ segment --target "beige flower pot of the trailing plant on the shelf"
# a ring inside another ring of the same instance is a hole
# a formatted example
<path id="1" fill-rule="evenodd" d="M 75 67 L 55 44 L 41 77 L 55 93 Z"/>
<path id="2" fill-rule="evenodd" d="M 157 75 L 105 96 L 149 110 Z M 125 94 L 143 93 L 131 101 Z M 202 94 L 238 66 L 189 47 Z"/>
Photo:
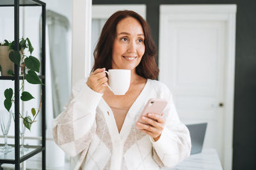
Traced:
<path id="1" fill-rule="evenodd" d="M 14 63 L 9 59 L 9 46 L 0 46 L 0 66 L 1 76 L 10 76 L 7 72 L 12 70 L 14 72 Z"/>

